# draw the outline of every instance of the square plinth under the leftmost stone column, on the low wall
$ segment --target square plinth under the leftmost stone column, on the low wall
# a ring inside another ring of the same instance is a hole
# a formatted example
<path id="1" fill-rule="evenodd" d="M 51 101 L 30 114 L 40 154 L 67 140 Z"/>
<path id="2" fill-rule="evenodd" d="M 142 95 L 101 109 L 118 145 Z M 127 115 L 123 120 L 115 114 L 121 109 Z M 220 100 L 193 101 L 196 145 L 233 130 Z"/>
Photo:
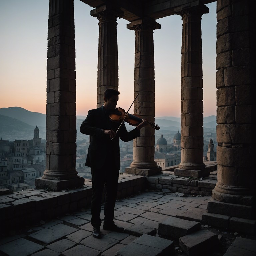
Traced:
<path id="1" fill-rule="evenodd" d="M 53 191 L 61 191 L 63 189 L 78 188 L 84 185 L 84 178 L 77 176 L 77 178 L 70 180 L 49 180 L 43 178 L 35 179 L 35 186 L 37 189 L 47 188 Z"/>

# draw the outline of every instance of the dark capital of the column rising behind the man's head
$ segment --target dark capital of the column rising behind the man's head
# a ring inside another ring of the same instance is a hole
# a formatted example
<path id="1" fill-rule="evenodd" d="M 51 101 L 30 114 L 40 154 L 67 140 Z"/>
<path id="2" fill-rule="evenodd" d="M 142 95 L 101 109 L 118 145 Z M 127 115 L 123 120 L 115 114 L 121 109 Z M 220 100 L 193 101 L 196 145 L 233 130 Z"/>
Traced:
<path id="1" fill-rule="evenodd" d="M 97 18 L 100 22 L 107 20 L 116 21 L 117 17 L 123 16 L 123 12 L 120 9 L 115 9 L 111 6 L 103 5 L 91 10 L 91 16 Z"/>

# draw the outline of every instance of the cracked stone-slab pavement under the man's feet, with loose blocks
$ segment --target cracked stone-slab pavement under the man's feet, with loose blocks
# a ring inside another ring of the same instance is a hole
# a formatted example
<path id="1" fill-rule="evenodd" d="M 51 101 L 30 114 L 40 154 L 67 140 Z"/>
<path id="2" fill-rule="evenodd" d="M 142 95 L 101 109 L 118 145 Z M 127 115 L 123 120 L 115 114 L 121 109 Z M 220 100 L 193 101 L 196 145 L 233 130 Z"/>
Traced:
<path id="1" fill-rule="evenodd" d="M 202 225 L 210 198 L 145 191 L 116 202 L 115 223 L 123 233 L 102 229 L 102 238 L 94 238 L 90 209 L 82 209 L 10 230 L 0 238 L 0 256 L 256 255 L 255 236 Z"/>

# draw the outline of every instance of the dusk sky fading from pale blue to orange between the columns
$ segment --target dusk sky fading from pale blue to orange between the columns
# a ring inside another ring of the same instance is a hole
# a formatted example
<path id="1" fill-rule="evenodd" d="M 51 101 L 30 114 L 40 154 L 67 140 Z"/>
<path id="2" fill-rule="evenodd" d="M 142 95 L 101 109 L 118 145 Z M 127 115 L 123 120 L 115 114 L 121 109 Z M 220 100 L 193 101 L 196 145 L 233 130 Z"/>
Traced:
<path id="1" fill-rule="evenodd" d="M 204 117 L 216 115 L 216 2 L 202 16 Z M 22 107 L 46 113 L 47 23 L 49 0 L 0 0 L 0 108 Z M 97 104 L 98 20 L 93 8 L 74 0 L 77 115 Z M 181 114 L 181 16 L 156 20 L 154 30 L 155 116 Z M 134 100 L 135 34 L 117 20 L 119 101 L 128 110 Z M 131 110 L 133 107 L 131 108 Z M 130 110 L 130 113 L 131 113 Z"/>

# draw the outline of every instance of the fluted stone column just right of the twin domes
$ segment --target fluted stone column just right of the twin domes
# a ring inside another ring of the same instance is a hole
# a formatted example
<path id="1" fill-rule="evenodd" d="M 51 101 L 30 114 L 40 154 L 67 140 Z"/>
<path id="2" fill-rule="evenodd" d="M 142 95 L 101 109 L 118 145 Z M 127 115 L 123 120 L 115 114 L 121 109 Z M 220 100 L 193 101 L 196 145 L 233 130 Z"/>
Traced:
<path id="1" fill-rule="evenodd" d="M 205 177 L 203 163 L 203 72 L 201 17 L 208 7 L 196 6 L 181 11 L 181 163 L 174 174 Z"/>

